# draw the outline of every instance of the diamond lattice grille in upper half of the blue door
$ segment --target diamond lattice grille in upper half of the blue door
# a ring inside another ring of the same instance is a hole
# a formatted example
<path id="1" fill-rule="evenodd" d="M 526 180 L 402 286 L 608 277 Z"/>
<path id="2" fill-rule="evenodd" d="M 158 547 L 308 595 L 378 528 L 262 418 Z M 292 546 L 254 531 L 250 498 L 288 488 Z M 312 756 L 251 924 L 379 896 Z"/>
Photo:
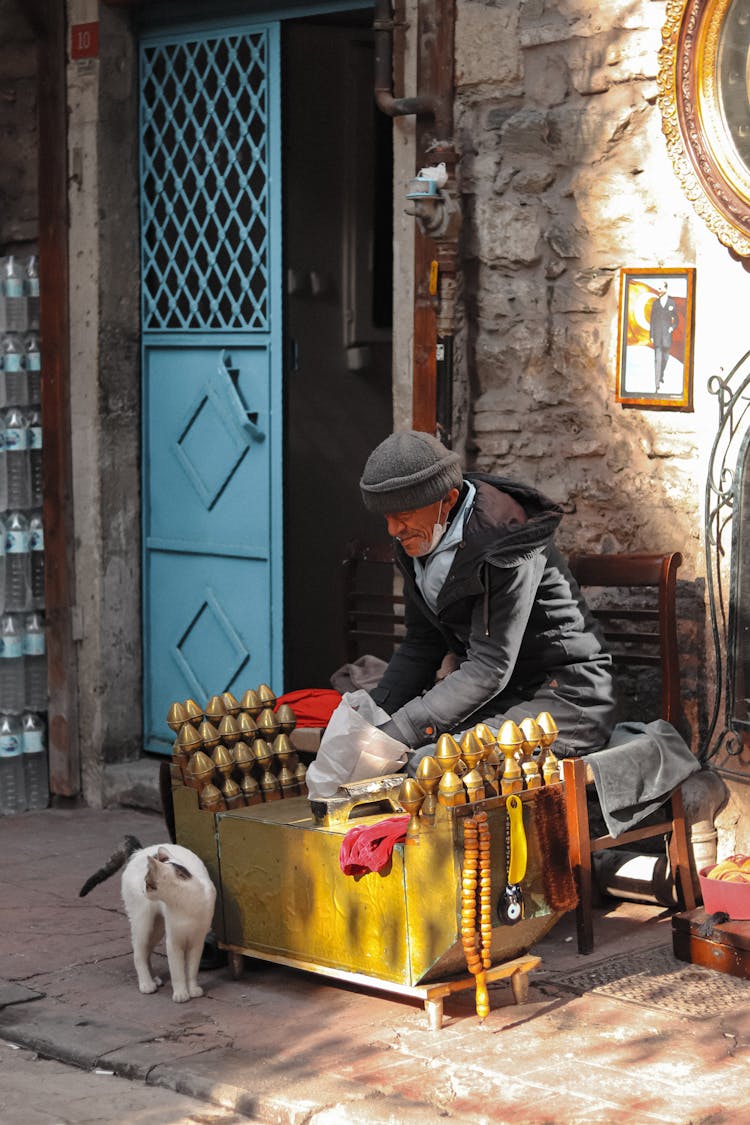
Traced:
<path id="1" fill-rule="evenodd" d="M 264 33 L 142 51 L 144 328 L 268 328 Z"/>

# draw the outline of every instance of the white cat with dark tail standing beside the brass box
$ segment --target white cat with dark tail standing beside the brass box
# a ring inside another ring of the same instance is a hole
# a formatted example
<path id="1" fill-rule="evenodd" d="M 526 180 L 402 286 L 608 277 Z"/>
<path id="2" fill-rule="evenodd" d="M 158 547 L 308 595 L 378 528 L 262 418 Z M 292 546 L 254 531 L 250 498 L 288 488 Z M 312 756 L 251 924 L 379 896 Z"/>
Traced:
<path id="1" fill-rule="evenodd" d="M 123 845 L 81 888 L 90 890 L 125 867 L 123 904 L 130 922 L 133 961 L 142 992 L 155 992 L 162 983 L 151 969 L 151 954 L 164 937 L 175 1004 L 204 994 L 198 966 L 216 901 L 206 866 L 195 853 L 179 844 L 142 847 L 135 836 Z"/>

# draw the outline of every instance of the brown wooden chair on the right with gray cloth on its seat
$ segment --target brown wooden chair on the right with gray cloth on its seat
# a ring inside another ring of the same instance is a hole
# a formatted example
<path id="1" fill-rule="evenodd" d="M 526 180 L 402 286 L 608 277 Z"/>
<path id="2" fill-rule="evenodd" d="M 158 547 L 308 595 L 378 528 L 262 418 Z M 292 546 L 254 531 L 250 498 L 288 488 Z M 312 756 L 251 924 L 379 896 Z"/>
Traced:
<path id="1" fill-rule="evenodd" d="M 681 706 L 675 594 L 677 568 L 681 561 L 683 557 L 678 552 L 575 555 L 570 559 L 570 568 L 579 586 L 597 587 L 600 592 L 602 601 L 597 597 L 593 612 L 599 619 L 612 652 L 615 678 L 623 668 L 659 668 L 660 717 L 677 727 L 680 726 Z M 642 714 L 629 718 L 645 721 Z M 684 908 L 694 910 L 695 891 L 680 789 L 676 789 L 665 802 L 663 816 L 659 816 L 657 824 L 641 825 L 616 839 L 612 836 L 593 838 L 586 794 L 587 785 L 594 782 L 590 767 L 580 758 L 566 758 L 562 762 L 562 776 L 568 810 L 570 862 L 579 893 L 576 911 L 579 952 L 590 953 L 594 948 L 591 855 L 604 848 L 620 847 L 656 836 L 669 837 L 671 870 Z"/>

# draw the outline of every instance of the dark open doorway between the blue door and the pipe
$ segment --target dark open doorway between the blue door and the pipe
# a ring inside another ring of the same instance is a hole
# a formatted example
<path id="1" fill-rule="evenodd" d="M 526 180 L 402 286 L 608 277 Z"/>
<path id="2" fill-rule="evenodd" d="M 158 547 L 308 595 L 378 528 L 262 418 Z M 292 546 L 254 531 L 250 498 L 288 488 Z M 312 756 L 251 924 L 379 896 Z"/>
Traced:
<path id="1" fill-rule="evenodd" d="M 283 27 L 286 690 L 344 663 L 347 540 L 382 536 L 359 478 L 391 430 L 392 137 L 371 14 Z"/>

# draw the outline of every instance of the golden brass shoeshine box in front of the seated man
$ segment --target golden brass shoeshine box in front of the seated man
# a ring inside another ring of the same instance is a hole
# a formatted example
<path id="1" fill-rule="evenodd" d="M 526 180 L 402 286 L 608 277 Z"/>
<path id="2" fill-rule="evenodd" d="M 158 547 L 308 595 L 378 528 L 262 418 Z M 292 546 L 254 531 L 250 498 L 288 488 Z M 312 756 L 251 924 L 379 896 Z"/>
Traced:
<path id="1" fill-rule="evenodd" d="M 559 919 L 544 899 L 533 830 L 537 792 L 519 794 L 528 861 L 525 918 L 513 926 L 495 914 L 506 885 L 505 798 L 440 808 L 416 844 L 396 845 L 383 872 L 351 876 L 340 866 L 342 839 L 354 824 L 382 820 L 382 812 L 324 825 L 307 798 L 209 812 L 192 789 L 175 786 L 173 796 L 178 843 L 204 860 L 218 889 L 215 932 L 223 947 L 416 986 L 466 974 L 462 820 L 479 809 L 491 838 L 493 964 L 527 952 Z"/>

